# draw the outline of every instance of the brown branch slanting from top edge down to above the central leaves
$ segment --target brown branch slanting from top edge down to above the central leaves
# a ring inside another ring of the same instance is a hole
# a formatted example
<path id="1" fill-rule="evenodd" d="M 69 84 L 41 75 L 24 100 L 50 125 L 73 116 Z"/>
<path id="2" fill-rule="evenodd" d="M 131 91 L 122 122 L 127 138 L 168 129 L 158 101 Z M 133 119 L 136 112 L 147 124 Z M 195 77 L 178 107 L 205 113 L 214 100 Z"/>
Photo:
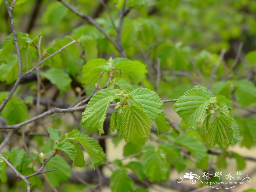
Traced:
<path id="1" fill-rule="evenodd" d="M 120 55 L 122 57 L 126 57 L 126 54 L 123 50 L 123 48 L 117 44 L 117 42 L 114 41 L 114 39 L 112 37 L 110 37 L 110 35 L 108 33 L 106 33 L 106 31 L 104 31 L 102 29 L 102 27 L 95 22 L 95 20 L 88 15 L 84 15 L 82 13 L 80 13 L 79 11 L 75 10 L 71 5 L 69 5 L 67 2 L 65 2 L 64 0 L 57 0 L 60 1 L 63 5 L 65 5 L 65 7 L 67 7 L 70 11 L 72 11 L 74 14 L 76 14 L 77 16 L 79 16 L 80 18 L 86 20 L 87 22 L 91 23 L 91 25 L 93 25 L 94 27 L 96 27 L 106 38 L 109 39 L 109 41 L 114 45 L 114 47 L 118 50 L 118 52 L 120 53 Z"/>

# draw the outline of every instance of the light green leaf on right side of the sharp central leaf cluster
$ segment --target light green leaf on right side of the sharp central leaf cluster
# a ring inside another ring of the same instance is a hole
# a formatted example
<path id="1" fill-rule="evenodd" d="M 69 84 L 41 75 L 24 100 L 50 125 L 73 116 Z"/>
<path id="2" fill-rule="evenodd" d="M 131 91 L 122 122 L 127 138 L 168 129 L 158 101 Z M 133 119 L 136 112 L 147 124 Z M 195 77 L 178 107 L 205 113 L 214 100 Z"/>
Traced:
<path id="1" fill-rule="evenodd" d="M 154 120 L 162 112 L 163 102 L 154 91 L 140 87 L 132 91 L 131 95 L 135 101 L 141 103 L 143 110 L 151 120 Z"/>

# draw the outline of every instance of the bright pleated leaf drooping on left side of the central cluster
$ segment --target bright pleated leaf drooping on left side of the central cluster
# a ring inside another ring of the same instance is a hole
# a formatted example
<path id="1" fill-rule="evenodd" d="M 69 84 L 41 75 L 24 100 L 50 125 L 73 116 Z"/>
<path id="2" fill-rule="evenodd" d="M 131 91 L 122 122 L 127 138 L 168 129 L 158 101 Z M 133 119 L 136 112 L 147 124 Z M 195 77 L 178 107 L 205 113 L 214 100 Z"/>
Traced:
<path id="1" fill-rule="evenodd" d="M 86 109 L 82 113 L 81 124 L 92 129 L 98 129 L 99 134 L 104 133 L 103 122 L 105 121 L 107 109 L 113 101 L 114 92 L 103 89 L 98 91 L 90 99 Z"/>

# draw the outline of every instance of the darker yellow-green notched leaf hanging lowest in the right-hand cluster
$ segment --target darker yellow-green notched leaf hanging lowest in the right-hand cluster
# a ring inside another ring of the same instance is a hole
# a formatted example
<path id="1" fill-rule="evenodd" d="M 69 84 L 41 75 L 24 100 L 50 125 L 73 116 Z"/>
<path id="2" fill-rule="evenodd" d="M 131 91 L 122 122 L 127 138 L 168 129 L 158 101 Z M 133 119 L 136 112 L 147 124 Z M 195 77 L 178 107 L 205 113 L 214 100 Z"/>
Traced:
<path id="1" fill-rule="evenodd" d="M 219 144 L 222 148 L 228 148 L 233 139 L 234 120 L 225 115 L 214 117 L 210 132 L 207 136 L 208 147 Z"/>

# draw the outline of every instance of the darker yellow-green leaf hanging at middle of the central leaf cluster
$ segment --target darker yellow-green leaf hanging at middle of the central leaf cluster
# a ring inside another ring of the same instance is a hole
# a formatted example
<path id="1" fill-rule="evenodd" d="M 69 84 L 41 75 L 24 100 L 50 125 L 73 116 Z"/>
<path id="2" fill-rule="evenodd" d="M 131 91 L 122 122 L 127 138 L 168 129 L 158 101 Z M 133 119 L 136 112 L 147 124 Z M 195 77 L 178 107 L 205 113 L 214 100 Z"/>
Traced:
<path id="1" fill-rule="evenodd" d="M 124 106 L 122 111 L 121 131 L 126 142 L 144 142 L 150 136 L 152 122 L 138 106 Z"/>

